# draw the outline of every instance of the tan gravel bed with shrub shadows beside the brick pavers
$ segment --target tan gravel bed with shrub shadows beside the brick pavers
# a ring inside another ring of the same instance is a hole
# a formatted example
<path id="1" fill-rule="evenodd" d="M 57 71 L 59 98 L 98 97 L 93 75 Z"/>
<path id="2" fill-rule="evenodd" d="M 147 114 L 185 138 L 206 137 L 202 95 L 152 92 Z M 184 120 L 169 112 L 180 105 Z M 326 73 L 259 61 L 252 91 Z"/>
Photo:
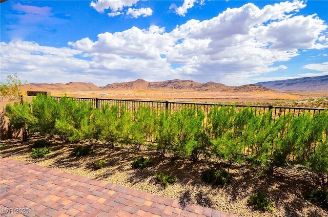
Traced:
<path id="1" fill-rule="evenodd" d="M 179 200 L 183 203 L 199 204 L 242 216 L 328 216 L 328 210 L 306 201 L 304 192 L 318 185 L 317 179 L 306 170 L 284 168 L 277 170 L 272 177 L 260 177 L 258 170 L 248 164 L 233 164 L 230 168 L 233 180 L 227 187 L 211 186 L 201 181 L 201 172 L 209 165 L 226 166 L 217 159 L 200 159 L 195 164 L 189 160 L 175 160 L 172 157 L 158 158 L 154 150 L 134 151 L 133 146 L 109 148 L 98 144 L 93 154 L 85 157 L 73 157 L 74 147 L 58 139 L 48 139 L 52 152 L 41 159 L 29 156 L 32 144 L 43 137 L 32 137 L 28 142 L 21 140 L 3 140 L 5 149 L 0 157 L 34 163 L 74 173 L 76 175 L 107 181 L 114 184 L 138 189 Z M 131 164 L 136 157 L 149 158 L 154 165 L 145 169 L 133 169 Z M 94 161 L 106 160 L 106 167 L 96 170 Z M 227 168 L 227 167 L 226 167 Z M 155 171 L 170 171 L 177 182 L 162 187 L 154 177 Z M 248 205 L 248 197 L 257 190 L 263 190 L 275 202 L 273 212 L 263 212 Z"/>

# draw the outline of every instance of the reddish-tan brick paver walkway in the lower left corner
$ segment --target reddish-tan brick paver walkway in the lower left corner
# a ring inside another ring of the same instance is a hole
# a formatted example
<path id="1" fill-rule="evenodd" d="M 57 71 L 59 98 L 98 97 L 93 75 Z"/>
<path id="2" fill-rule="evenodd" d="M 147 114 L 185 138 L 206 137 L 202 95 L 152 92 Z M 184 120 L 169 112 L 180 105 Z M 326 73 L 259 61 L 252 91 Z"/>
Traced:
<path id="1" fill-rule="evenodd" d="M 0 169 L 1 216 L 237 216 L 11 158 Z"/>

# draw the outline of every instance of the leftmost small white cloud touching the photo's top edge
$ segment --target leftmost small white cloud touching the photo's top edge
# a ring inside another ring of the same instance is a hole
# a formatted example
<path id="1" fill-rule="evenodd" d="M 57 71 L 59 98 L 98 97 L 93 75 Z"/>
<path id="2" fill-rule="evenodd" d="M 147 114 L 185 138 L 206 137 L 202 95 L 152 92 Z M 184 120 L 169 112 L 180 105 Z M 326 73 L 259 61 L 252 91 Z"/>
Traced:
<path id="1" fill-rule="evenodd" d="M 90 6 L 99 13 L 104 13 L 105 9 L 111 9 L 113 12 L 121 11 L 124 7 L 131 7 L 139 0 L 96 0 L 91 2 Z"/>

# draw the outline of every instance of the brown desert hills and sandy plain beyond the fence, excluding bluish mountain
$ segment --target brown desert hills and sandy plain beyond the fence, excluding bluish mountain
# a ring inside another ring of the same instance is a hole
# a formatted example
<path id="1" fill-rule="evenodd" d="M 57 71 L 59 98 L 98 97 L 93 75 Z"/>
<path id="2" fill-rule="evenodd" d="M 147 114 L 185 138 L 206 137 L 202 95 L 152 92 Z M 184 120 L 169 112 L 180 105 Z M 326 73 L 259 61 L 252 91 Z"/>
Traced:
<path id="1" fill-rule="evenodd" d="M 305 84 L 303 84 L 305 86 Z M 30 83 L 22 86 L 23 91 L 47 91 L 52 96 L 87 97 L 125 100 L 167 100 L 175 102 L 211 102 L 239 104 L 273 104 L 300 105 L 308 99 L 327 101 L 328 89 L 325 92 L 279 92 L 265 86 L 247 84 L 227 86 L 221 83 L 199 83 L 192 80 L 167 80 L 149 82 L 137 79 L 131 82 L 112 83 L 96 86 L 93 83 Z M 296 103 L 296 104 L 295 104 Z M 309 103 L 308 103 L 309 104 Z M 306 105 L 312 106 L 312 105 Z M 313 105 L 326 107 L 326 105 Z"/>

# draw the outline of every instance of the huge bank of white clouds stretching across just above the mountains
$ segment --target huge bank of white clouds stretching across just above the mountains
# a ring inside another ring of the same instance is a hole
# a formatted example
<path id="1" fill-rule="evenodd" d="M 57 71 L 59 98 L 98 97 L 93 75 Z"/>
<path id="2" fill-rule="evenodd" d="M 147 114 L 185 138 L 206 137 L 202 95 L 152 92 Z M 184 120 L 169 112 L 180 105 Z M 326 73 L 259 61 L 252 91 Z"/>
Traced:
<path id="1" fill-rule="evenodd" d="M 68 81 L 88 75 L 88 81 L 92 78 L 98 85 L 137 78 L 251 83 L 255 76 L 286 70 L 283 61 L 301 55 L 302 50 L 328 47 L 328 26 L 316 15 L 298 15 L 304 7 L 299 1 L 262 9 L 249 3 L 208 20 L 191 19 L 170 32 L 151 26 L 101 33 L 96 40 L 69 42 L 73 49 L 26 41 L 4 43 L 1 70 L 40 73 L 38 78 L 49 81 L 58 78 L 56 74 L 70 73 L 65 77 Z M 318 74 L 328 71 L 326 62 L 303 68 Z"/>

